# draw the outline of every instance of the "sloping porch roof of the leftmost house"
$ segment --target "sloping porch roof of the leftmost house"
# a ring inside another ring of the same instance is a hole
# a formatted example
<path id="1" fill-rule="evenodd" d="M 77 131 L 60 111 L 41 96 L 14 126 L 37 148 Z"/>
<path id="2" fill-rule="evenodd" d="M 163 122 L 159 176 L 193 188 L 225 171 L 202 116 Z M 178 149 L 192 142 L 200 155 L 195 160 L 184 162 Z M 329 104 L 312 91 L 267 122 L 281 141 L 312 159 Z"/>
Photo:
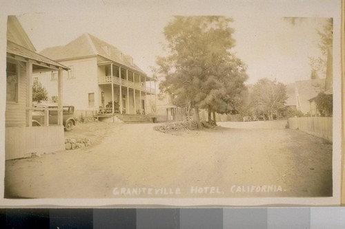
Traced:
<path id="1" fill-rule="evenodd" d="M 52 61 L 49 58 L 46 58 L 45 56 L 37 54 L 36 52 L 32 52 L 32 50 L 28 50 L 25 47 L 21 47 L 20 45 L 17 45 L 13 43 L 12 41 L 7 41 L 6 52 L 12 55 L 13 57 L 21 56 L 23 58 L 28 58 L 30 60 L 37 61 L 37 63 L 45 63 L 46 65 L 48 65 L 46 67 L 54 66 L 54 67 L 61 67 L 63 69 L 68 70 L 68 67 L 61 65 L 60 63 L 57 63 L 55 61 Z"/>

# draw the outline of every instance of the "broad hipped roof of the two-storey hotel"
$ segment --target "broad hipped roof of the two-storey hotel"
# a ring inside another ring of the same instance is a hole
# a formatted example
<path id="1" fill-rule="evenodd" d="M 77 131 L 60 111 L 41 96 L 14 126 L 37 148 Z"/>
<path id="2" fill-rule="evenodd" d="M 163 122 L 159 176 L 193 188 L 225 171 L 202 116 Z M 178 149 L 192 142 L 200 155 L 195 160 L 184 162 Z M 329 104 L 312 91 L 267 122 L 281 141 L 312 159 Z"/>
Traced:
<path id="1" fill-rule="evenodd" d="M 40 54 L 55 61 L 98 55 L 146 75 L 142 69 L 135 65 L 131 56 L 125 55 L 117 47 L 88 33 L 82 34 L 67 45 L 48 47 Z"/>

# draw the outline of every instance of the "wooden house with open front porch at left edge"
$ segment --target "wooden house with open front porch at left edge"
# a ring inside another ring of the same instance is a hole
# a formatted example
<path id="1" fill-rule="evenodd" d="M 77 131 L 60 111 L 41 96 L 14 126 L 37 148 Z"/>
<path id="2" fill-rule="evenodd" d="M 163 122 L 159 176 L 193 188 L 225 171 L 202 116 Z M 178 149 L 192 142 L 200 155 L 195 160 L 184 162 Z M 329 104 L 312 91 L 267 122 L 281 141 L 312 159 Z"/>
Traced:
<path id="1" fill-rule="evenodd" d="M 17 17 L 8 17 L 6 48 L 6 160 L 65 149 L 62 100 L 58 98 L 58 124 L 32 126 L 32 85 L 36 72 L 57 72 L 57 95 L 62 94 L 63 70 L 68 67 L 36 53 Z M 61 96 L 60 96 L 61 97 Z"/>

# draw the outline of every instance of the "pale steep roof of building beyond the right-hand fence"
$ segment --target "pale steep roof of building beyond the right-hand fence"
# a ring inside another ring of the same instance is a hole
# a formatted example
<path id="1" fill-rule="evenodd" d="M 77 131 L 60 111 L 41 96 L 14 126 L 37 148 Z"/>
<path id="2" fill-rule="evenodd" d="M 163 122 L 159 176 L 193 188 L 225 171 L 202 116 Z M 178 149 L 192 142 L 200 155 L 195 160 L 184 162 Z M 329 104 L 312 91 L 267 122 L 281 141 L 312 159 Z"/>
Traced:
<path id="1" fill-rule="evenodd" d="M 301 102 L 314 98 L 319 92 L 324 91 L 326 80 L 319 78 L 315 80 L 299 80 L 295 82 L 296 90 Z"/>

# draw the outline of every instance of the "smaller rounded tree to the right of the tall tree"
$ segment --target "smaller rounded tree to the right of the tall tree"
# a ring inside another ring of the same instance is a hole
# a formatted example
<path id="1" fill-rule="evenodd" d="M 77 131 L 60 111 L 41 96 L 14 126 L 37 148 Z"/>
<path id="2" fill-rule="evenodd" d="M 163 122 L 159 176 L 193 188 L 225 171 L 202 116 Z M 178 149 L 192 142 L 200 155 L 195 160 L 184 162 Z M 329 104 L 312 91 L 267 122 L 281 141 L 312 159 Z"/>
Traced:
<path id="1" fill-rule="evenodd" d="M 286 102 L 286 85 L 262 78 L 257 81 L 251 94 L 251 105 L 257 114 L 266 114 L 270 119 L 273 113 L 278 113 L 284 109 Z"/>

